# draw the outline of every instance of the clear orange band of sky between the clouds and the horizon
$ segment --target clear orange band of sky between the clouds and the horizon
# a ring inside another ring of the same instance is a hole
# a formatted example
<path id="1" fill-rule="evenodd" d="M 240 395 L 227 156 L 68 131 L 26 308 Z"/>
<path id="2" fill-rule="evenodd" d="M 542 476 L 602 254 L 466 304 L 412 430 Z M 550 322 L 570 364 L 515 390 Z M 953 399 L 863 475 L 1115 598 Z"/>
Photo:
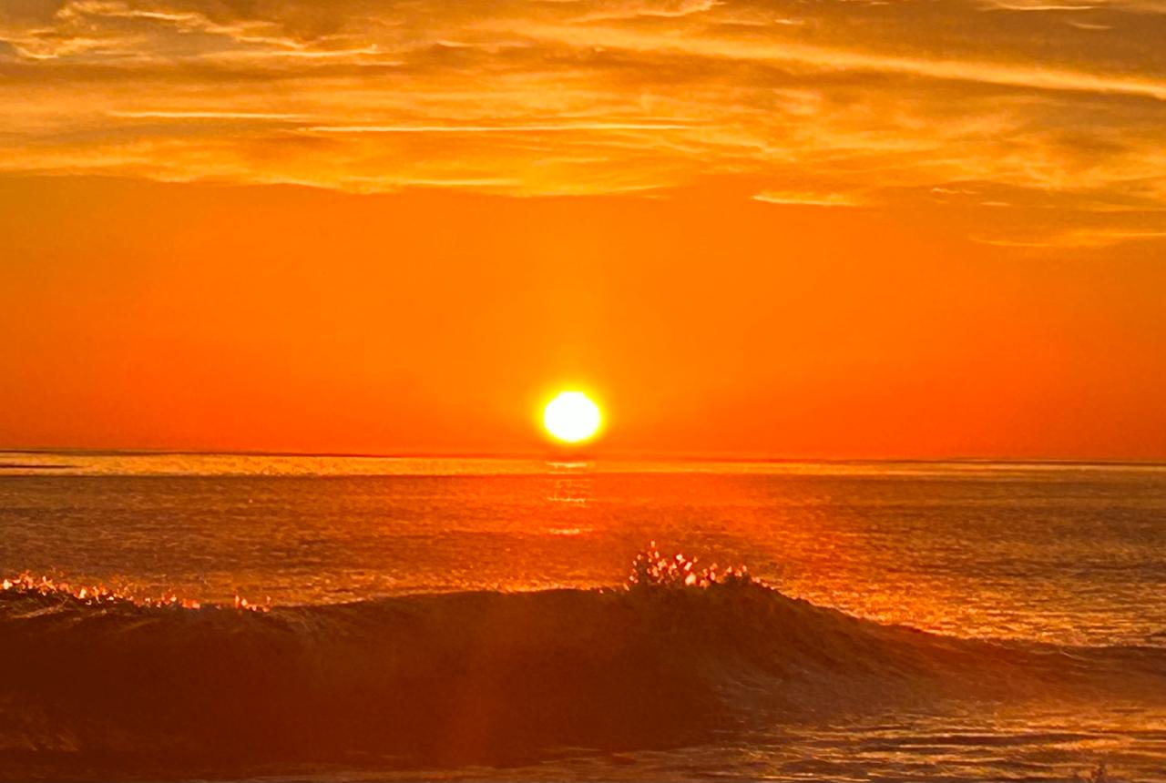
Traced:
<path id="1" fill-rule="evenodd" d="M 1166 457 L 1161 246 L 923 205 L 0 179 L 0 445 Z"/>

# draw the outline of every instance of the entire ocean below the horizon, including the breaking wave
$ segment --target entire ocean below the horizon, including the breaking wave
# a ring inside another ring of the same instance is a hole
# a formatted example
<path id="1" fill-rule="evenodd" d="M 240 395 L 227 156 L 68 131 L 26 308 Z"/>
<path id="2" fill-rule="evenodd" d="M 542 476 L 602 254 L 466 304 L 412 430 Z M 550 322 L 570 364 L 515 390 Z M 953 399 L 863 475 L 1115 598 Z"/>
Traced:
<path id="1" fill-rule="evenodd" d="M 1166 466 L 0 453 L 0 780 L 1166 781 Z"/>

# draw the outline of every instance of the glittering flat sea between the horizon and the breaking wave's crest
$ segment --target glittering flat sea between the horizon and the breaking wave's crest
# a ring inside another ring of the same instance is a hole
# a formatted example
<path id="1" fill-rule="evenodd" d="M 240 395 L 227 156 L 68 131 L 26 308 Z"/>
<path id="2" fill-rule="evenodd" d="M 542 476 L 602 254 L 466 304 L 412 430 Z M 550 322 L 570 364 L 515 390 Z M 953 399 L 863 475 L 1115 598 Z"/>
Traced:
<path id="1" fill-rule="evenodd" d="M 747 565 L 793 597 L 948 635 L 1157 643 L 1166 628 L 1153 577 L 1166 468 L 1154 465 L 0 461 L 34 479 L 0 485 L 0 577 L 279 606 L 612 586 L 656 541 L 702 565 Z M 54 514 L 69 524 L 47 524 Z M 162 527 L 173 543 L 160 549 Z"/>

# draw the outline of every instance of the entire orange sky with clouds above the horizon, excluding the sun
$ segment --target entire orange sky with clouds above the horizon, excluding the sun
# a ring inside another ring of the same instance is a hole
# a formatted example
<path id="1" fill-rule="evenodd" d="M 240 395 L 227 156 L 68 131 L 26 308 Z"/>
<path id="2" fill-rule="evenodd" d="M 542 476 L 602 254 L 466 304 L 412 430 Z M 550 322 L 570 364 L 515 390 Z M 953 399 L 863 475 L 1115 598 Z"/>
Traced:
<path id="1" fill-rule="evenodd" d="M 0 3 L 0 446 L 1166 458 L 1166 6 Z"/>

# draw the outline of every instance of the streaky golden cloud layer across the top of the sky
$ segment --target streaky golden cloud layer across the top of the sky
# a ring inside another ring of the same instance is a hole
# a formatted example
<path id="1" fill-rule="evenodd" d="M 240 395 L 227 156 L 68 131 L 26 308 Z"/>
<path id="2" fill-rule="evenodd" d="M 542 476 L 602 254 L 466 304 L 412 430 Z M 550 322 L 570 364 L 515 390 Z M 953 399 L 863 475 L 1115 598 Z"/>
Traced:
<path id="1" fill-rule="evenodd" d="M 1157 241 L 1163 10 L 8 0 L 0 170 L 356 191 L 721 183 L 774 209 L 954 210 L 989 242 Z"/>

